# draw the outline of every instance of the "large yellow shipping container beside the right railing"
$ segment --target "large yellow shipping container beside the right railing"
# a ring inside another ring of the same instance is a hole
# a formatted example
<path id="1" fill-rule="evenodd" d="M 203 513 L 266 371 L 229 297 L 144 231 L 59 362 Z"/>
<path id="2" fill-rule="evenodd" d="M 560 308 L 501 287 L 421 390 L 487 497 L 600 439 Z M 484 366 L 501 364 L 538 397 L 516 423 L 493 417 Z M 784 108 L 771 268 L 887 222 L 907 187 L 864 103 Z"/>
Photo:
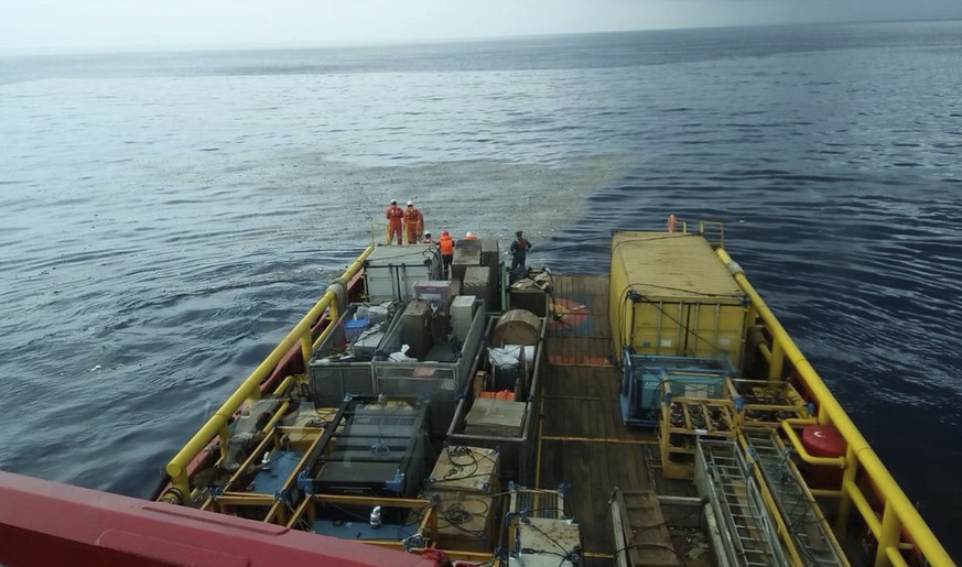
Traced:
<path id="1" fill-rule="evenodd" d="M 716 357 L 738 368 L 748 298 L 711 244 L 693 233 L 615 232 L 608 315 L 615 356 Z"/>

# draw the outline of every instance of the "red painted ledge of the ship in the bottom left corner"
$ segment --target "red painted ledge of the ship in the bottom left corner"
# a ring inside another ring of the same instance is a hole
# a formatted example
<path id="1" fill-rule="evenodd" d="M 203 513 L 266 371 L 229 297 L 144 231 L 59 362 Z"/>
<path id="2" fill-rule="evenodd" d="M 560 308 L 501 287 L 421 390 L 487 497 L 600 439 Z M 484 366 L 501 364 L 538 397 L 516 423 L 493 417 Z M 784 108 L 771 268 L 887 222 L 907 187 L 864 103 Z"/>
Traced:
<path id="1" fill-rule="evenodd" d="M 0 564 L 434 567 L 439 561 L 278 525 L 0 472 Z"/>

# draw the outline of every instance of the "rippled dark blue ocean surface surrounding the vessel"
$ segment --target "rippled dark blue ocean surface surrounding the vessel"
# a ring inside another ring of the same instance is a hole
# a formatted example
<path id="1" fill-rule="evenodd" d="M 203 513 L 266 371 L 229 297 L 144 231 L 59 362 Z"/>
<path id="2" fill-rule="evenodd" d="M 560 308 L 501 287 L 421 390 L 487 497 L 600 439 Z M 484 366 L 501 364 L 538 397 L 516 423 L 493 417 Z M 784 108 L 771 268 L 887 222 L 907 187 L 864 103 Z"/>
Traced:
<path id="1" fill-rule="evenodd" d="M 960 62 L 962 22 L 0 58 L 0 469 L 148 495 L 390 198 L 582 272 L 673 212 L 962 557 Z"/>

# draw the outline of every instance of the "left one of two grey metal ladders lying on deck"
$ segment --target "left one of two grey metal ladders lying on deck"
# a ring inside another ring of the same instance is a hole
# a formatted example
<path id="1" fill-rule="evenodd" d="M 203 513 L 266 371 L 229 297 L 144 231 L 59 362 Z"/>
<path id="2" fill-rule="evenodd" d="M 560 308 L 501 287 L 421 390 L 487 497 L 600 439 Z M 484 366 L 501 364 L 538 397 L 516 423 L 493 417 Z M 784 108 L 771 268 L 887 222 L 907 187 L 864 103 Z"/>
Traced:
<path id="1" fill-rule="evenodd" d="M 695 484 L 720 527 L 716 553 L 733 566 L 788 566 L 748 464 L 734 441 L 699 439 Z M 720 557 L 720 559 L 722 559 Z"/>

